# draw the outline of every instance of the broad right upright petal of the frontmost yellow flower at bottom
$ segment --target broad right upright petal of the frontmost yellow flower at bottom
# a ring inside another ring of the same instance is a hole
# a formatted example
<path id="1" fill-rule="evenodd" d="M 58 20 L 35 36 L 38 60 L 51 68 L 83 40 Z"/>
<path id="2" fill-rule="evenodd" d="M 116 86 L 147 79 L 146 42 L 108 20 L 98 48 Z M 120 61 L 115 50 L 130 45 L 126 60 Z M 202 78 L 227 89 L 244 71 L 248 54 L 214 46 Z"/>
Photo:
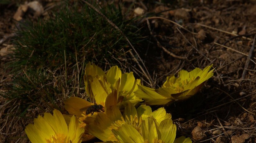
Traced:
<path id="1" fill-rule="evenodd" d="M 172 119 L 165 119 L 158 126 L 161 134 L 161 140 L 172 143 L 176 137 L 176 125 L 173 124 Z"/>

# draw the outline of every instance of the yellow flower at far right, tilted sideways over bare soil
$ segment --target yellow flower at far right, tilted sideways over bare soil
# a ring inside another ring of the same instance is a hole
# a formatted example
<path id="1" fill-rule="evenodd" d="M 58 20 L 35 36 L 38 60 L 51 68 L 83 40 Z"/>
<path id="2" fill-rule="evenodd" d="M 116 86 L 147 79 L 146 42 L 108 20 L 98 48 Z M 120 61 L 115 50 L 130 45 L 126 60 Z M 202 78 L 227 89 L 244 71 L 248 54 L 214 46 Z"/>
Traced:
<path id="1" fill-rule="evenodd" d="M 197 93 L 213 76 L 213 70 L 209 71 L 212 66 L 205 67 L 203 70 L 195 68 L 190 72 L 181 70 L 178 78 L 174 75 L 168 76 L 159 89 L 138 85 L 139 90 L 135 92 L 135 96 L 144 99 L 148 105 L 164 105 L 176 100 L 186 100 Z"/>

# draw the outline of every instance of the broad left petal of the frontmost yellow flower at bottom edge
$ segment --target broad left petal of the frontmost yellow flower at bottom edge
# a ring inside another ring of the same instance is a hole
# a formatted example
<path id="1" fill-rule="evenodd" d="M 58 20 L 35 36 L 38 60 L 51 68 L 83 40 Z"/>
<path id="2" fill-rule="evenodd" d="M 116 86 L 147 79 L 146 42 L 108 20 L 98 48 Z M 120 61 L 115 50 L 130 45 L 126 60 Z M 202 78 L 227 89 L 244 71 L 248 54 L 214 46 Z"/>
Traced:
<path id="1" fill-rule="evenodd" d="M 131 125 L 122 125 L 118 130 L 112 130 L 120 143 L 144 143 L 140 133 Z"/>

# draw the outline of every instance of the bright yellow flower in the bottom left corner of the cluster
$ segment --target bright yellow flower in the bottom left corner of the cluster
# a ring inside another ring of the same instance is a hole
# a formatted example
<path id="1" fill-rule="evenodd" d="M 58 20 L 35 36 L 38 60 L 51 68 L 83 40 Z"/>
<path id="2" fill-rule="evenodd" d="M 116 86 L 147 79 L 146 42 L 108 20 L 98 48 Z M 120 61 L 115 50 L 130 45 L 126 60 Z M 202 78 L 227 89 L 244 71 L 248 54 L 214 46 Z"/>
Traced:
<path id="1" fill-rule="evenodd" d="M 44 113 L 43 117 L 35 118 L 34 125 L 27 125 L 25 133 L 32 143 L 80 143 L 84 129 L 78 126 L 75 116 L 70 118 L 67 125 L 61 112 L 55 109 L 53 116 Z"/>

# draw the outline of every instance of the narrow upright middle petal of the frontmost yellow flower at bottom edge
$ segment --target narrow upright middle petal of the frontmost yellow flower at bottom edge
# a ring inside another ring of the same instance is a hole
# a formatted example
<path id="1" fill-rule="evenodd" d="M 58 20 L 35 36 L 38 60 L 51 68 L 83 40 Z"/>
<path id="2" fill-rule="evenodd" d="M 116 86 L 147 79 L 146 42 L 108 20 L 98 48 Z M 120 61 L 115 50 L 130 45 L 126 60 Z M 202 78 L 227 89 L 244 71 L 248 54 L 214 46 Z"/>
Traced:
<path id="1" fill-rule="evenodd" d="M 155 124 L 154 118 L 148 117 L 141 124 L 141 136 L 144 140 L 148 140 L 152 143 L 152 140 L 157 138 L 157 126 Z"/>

